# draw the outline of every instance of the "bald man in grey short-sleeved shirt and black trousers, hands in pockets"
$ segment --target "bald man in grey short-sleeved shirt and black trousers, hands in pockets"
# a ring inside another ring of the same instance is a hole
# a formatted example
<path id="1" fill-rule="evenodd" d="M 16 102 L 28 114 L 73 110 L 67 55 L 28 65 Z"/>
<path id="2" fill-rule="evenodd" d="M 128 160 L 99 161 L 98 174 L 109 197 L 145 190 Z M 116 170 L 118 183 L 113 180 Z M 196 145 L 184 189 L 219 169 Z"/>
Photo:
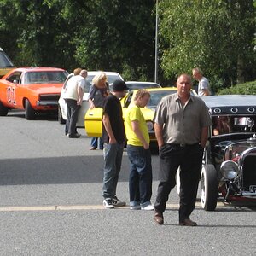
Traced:
<path id="1" fill-rule="evenodd" d="M 180 167 L 179 224 L 197 225 L 189 217 L 195 209 L 202 155 L 212 121 L 201 98 L 190 95 L 191 86 L 191 77 L 180 75 L 177 93 L 165 96 L 154 114 L 154 131 L 160 149 L 160 183 L 154 203 L 157 224 L 164 223 L 163 212 Z"/>

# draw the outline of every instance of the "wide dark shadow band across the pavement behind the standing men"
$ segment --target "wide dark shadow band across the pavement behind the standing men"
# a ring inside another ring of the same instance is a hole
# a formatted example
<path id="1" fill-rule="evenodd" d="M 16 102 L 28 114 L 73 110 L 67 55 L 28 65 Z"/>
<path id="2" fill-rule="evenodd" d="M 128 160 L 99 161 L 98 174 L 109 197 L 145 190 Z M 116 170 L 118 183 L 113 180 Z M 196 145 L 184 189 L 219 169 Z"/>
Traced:
<path id="1" fill-rule="evenodd" d="M 103 165 L 102 155 L 1 160 L 0 185 L 102 183 Z M 124 156 L 119 182 L 128 180 L 129 160 Z"/>

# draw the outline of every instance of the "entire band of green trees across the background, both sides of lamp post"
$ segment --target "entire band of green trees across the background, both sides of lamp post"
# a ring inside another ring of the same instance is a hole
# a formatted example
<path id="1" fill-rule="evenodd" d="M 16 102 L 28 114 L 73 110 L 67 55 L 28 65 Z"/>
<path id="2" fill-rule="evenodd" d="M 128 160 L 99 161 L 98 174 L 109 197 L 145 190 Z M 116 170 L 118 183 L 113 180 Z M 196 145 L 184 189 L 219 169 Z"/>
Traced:
<path id="1" fill-rule="evenodd" d="M 155 3 L 0 0 L 0 46 L 16 66 L 85 67 L 154 80 Z M 202 68 L 214 91 L 255 79 L 255 0 L 158 3 L 161 81 L 193 67 Z"/>

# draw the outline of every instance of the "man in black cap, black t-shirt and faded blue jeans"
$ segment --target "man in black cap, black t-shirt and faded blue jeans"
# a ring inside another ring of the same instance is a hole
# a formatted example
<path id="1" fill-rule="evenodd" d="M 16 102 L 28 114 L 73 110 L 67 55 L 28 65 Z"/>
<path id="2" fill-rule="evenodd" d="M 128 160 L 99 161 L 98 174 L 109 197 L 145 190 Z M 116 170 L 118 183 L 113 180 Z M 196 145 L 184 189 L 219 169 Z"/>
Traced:
<path id="1" fill-rule="evenodd" d="M 122 107 L 119 98 L 125 96 L 127 85 L 122 80 L 113 82 L 113 92 L 105 101 L 103 108 L 103 131 L 104 142 L 104 177 L 103 177 L 103 206 L 106 209 L 124 207 L 125 202 L 116 196 L 116 187 L 122 164 L 122 156 L 125 145 L 125 126 Z"/>

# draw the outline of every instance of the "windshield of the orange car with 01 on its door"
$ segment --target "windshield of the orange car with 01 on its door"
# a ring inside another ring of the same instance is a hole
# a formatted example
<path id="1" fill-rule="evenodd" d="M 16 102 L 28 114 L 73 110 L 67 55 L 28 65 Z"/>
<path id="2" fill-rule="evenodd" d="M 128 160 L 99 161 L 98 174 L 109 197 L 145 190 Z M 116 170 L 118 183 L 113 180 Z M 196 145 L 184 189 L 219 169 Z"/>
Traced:
<path id="1" fill-rule="evenodd" d="M 66 78 L 65 71 L 26 72 L 24 84 L 61 84 Z"/>

